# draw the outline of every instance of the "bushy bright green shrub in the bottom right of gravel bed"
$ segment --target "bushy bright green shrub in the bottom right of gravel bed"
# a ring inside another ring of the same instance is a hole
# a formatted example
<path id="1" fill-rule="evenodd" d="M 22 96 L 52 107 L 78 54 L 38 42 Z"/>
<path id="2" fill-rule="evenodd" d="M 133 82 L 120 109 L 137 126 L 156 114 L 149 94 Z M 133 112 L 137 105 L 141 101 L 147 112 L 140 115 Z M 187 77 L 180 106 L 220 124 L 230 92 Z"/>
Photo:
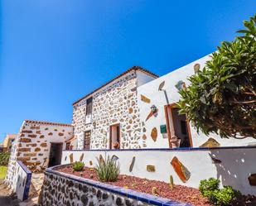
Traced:
<path id="1" fill-rule="evenodd" d="M 219 186 L 220 180 L 214 178 L 201 180 L 199 186 L 200 193 L 206 197 L 211 204 L 216 205 L 229 205 L 233 199 L 241 195 L 238 190 L 230 186 L 224 186 L 223 189 L 220 189 Z"/>

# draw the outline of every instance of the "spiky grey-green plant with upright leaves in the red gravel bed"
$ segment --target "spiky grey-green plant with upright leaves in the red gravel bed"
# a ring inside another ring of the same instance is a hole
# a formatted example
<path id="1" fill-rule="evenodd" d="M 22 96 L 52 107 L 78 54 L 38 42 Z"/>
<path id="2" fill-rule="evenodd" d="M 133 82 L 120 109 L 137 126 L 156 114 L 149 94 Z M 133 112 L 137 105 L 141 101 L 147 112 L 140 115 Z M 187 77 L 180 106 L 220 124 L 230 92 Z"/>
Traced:
<path id="1" fill-rule="evenodd" d="M 120 165 L 117 160 L 110 158 L 109 156 L 105 160 L 98 160 L 98 165 L 96 165 L 96 173 L 100 181 L 108 182 L 115 181 L 118 179 L 120 173 Z"/>

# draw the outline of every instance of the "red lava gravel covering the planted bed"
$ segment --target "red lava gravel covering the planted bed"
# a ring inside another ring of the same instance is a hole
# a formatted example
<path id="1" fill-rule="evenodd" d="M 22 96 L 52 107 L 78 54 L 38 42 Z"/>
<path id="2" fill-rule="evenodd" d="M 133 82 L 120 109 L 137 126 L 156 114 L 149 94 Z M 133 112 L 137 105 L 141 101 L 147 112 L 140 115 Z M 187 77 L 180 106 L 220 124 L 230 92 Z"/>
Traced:
<path id="1" fill-rule="evenodd" d="M 84 177 L 86 179 L 99 181 L 96 171 L 93 168 L 85 167 L 82 172 L 74 171 L 71 166 L 62 167 L 57 169 L 60 172 L 64 172 L 70 175 L 76 175 L 79 177 Z M 92 176 L 93 175 L 93 176 Z M 194 204 L 195 206 L 212 206 L 208 200 L 200 195 L 199 189 L 186 187 L 182 185 L 174 185 L 173 189 L 170 189 L 169 184 L 157 181 L 157 180 L 147 180 L 129 175 L 118 175 L 118 180 L 115 182 L 104 182 L 106 184 L 112 184 L 119 187 L 124 187 L 128 189 L 133 189 L 142 193 L 152 194 L 152 187 L 157 188 L 157 196 L 162 198 L 176 200 L 181 203 Z M 251 203 L 253 200 L 254 203 Z M 248 197 L 243 196 L 242 199 L 236 201 L 232 205 L 236 206 L 253 206 L 256 205 L 256 199 L 253 197 L 248 202 Z"/>

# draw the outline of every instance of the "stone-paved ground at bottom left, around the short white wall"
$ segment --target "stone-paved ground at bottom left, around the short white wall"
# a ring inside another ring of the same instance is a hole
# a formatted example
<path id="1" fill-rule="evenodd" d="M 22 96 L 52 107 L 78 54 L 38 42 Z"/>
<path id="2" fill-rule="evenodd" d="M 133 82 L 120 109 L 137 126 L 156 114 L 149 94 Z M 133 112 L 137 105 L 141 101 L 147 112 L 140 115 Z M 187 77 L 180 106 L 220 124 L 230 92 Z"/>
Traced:
<path id="1" fill-rule="evenodd" d="M 35 206 L 41 192 L 43 180 L 43 174 L 32 174 L 29 198 L 23 202 L 17 199 L 16 194 L 12 194 L 7 185 L 3 184 L 3 180 L 0 180 L 0 206 Z"/>

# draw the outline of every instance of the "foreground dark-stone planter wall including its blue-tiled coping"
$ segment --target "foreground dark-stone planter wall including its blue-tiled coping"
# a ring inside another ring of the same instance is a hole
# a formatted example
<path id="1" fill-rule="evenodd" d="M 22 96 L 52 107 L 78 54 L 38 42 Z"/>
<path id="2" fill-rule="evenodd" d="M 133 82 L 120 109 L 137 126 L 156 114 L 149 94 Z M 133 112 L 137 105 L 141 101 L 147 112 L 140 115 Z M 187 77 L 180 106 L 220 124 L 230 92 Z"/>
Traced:
<path id="1" fill-rule="evenodd" d="M 191 206 L 151 194 L 142 194 L 110 184 L 80 178 L 58 172 L 52 167 L 46 170 L 42 188 L 41 205 L 85 206 Z"/>

